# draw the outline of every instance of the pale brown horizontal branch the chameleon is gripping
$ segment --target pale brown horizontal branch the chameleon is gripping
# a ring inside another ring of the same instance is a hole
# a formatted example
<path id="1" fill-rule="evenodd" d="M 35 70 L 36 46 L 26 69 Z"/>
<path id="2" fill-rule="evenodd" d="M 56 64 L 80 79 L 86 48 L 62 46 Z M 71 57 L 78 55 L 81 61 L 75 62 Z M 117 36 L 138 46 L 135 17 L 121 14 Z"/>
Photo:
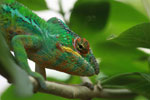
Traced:
<path id="1" fill-rule="evenodd" d="M 135 93 L 131 93 L 127 89 L 103 89 L 100 90 L 97 85 L 94 86 L 94 90 L 90 90 L 85 86 L 80 85 L 68 85 L 68 84 L 60 84 L 56 82 L 46 81 L 47 90 L 41 89 L 38 86 L 37 81 L 30 77 L 34 88 L 39 92 L 53 94 L 57 96 L 61 96 L 64 98 L 133 98 L 136 96 Z"/>

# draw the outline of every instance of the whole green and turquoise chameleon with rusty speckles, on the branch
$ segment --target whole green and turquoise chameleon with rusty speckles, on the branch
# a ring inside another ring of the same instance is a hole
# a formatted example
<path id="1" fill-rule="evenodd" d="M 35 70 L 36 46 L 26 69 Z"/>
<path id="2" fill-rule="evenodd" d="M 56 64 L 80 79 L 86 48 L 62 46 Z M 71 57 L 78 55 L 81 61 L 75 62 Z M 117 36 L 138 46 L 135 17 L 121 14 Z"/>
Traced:
<path id="1" fill-rule="evenodd" d="M 0 32 L 19 66 L 35 77 L 40 86 L 44 78 L 32 72 L 27 59 L 45 77 L 45 68 L 78 76 L 99 73 L 99 65 L 86 39 L 79 37 L 60 19 L 47 22 L 15 0 L 0 1 Z"/>

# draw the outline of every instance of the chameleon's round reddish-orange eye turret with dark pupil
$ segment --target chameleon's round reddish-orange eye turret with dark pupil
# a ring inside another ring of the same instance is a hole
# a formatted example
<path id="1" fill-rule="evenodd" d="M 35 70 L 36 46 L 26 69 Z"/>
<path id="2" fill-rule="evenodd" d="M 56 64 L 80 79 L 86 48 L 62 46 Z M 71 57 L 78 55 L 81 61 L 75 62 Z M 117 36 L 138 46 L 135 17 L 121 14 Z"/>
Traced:
<path id="1" fill-rule="evenodd" d="M 89 43 L 85 38 L 77 38 L 74 41 L 74 48 L 80 54 L 87 54 L 89 52 Z"/>

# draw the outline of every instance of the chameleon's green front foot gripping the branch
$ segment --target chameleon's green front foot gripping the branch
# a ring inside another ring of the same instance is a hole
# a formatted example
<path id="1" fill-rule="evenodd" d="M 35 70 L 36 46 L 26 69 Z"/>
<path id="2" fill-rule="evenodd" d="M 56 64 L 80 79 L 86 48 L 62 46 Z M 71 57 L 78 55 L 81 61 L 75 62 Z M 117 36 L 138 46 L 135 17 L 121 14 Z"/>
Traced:
<path id="1" fill-rule="evenodd" d="M 40 88 L 42 88 L 42 89 L 44 89 L 44 90 L 47 89 L 46 84 L 45 84 L 45 80 L 44 80 L 43 76 L 41 76 L 41 75 L 40 75 L 39 73 L 37 73 L 37 72 L 31 72 L 30 75 L 31 75 L 32 77 L 34 77 L 34 78 L 37 80 L 37 82 L 38 82 L 39 85 L 40 85 Z"/>

